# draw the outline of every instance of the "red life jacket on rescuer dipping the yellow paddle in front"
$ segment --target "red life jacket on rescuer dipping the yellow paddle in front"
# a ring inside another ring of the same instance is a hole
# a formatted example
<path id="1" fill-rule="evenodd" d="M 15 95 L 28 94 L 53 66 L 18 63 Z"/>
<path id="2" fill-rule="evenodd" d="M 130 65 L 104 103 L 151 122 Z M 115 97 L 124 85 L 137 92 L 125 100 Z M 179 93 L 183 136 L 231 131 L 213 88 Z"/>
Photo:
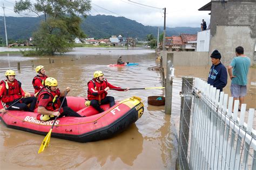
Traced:
<path id="1" fill-rule="evenodd" d="M 46 110 L 50 110 L 50 111 L 54 111 L 56 109 L 59 109 L 60 107 L 60 100 L 57 94 L 60 94 L 59 89 L 57 89 L 56 91 L 49 91 L 46 88 L 43 88 L 42 91 L 37 95 L 37 104 L 39 103 L 39 100 L 44 100 L 43 98 L 41 98 L 42 95 L 44 94 L 49 94 L 51 97 L 51 102 L 49 102 L 46 106 Z M 55 96 L 57 96 L 57 98 L 55 98 Z M 55 98 L 55 101 L 53 101 L 53 99 Z"/>

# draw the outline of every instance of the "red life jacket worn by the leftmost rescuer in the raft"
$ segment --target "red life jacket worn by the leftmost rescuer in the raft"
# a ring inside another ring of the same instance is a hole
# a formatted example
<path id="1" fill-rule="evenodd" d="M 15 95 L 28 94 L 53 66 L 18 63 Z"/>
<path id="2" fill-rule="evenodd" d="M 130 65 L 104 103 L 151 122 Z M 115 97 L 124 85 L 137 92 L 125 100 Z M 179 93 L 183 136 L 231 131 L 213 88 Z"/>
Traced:
<path id="1" fill-rule="evenodd" d="M 2 80 L 0 84 L 4 84 L 4 93 L 2 95 L 2 102 L 3 103 L 11 103 L 19 98 L 22 97 L 21 94 L 21 82 L 14 79 L 14 82 L 8 83 L 8 88 L 6 88 L 7 80 Z"/>

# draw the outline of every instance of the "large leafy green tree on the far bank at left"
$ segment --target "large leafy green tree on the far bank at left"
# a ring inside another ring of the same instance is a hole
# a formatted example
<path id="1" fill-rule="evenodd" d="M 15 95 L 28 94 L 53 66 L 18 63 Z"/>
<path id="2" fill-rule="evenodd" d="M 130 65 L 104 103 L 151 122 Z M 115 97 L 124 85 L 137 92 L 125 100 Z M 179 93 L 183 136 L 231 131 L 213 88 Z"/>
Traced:
<path id="1" fill-rule="evenodd" d="M 53 55 L 72 50 L 73 39 L 85 38 L 80 29 L 82 19 L 91 9 L 90 0 L 19 0 L 14 11 L 34 12 L 38 17 L 44 17 L 39 29 L 33 33 L 33 44 L 36 45 L 33 54 Z"/>

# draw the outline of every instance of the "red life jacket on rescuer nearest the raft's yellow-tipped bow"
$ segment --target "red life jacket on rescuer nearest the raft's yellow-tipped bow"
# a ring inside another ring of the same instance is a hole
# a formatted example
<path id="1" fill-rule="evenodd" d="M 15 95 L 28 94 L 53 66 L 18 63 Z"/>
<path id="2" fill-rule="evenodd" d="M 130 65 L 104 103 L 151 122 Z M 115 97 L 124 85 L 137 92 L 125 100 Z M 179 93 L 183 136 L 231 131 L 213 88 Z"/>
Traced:
<path id="1" fill-rule="evenodd" d="M 89 87 L 89 83 L 93 83 L 94 89 L 97 90 L 97 91 L 99 91 L 99 90 L 104 90 L 105 88 L 107 88 L 107 80 L 106 80 L 106 79 L 104 79 L 104 81 L 103 81 L 102 83 L 98 83 L 95 79 L 92 79 L 92 80 L 90 80 L 90 81 L 87 83 L 87 86 L 88 86 L 88 87 Z M 103 98 L 105 98 L 106 95 L 107 95 L 107 92 L 104 91 L 104 93 L 101 94 L 101 95 L 93 96 L 93 95 L 91 94 L 91 91 L 89 90 L 89 88 L 88 88 L 88 90 L 87 90 L 87 98 L 88 98 L 89 100 L 98 100 L 98 101 L 99 101 L 99 100 L 103 100 Z"/>

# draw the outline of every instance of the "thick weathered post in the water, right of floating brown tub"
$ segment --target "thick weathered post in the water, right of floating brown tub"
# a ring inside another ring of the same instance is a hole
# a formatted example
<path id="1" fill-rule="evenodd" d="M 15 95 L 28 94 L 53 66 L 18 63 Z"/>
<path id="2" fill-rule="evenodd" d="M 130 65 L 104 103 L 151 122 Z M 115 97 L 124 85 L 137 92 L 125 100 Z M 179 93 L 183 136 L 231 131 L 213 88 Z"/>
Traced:
<path id="1" fill-rule="evenodd" d="M 166 82 L 165 82 L 165 114 L 172 114 L 172 76 L 173 53 L 167 54 Z"/>

